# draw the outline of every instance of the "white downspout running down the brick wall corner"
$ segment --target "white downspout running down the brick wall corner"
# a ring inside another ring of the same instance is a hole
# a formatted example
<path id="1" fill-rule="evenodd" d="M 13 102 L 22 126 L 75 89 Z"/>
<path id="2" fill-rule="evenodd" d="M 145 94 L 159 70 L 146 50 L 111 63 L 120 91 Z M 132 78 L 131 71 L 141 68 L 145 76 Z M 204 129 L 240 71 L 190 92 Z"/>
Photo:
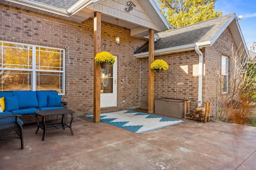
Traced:
<path id="1" fill-rule="evenodd" d="M 195 46 L 196 53 L 199 55 L 199 64 L 198 64 L 198 106 L 201 106 L 203 103 L 203 53 L 200 51 L 198 45 Z"/>

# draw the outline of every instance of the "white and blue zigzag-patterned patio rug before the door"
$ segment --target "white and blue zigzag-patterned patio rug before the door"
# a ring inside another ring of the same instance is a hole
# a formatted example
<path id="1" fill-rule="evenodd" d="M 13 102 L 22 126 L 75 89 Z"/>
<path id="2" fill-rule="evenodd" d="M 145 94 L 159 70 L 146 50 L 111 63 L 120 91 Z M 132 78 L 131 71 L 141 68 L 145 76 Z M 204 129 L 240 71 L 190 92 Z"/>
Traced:
<path id="1" fill-rule="evenodd" d="M 86 116 L 93 118 L 93 115 Z M 139 134 L 184 122 L 131 110 L 100 113 L 100 120 Z"/>

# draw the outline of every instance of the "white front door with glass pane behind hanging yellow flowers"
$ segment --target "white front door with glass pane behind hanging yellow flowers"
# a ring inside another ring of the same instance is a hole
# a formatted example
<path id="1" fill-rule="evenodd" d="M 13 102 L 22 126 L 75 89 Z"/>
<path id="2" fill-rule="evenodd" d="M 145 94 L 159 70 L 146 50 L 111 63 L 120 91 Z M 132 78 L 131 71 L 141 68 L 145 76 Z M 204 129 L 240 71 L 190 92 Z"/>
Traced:
<path id="1" fill-rule="evenodd" d="M 117 98 L 117 57 L 109 69 L 101 69 L 100 76 L 100 107 L 116 106 Z"/>

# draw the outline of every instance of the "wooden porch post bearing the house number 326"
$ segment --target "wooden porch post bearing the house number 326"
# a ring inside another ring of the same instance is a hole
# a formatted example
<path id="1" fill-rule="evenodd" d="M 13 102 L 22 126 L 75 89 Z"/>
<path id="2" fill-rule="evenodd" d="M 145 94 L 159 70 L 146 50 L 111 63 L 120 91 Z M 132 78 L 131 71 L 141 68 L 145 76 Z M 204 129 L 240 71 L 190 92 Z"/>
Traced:
<path id="1" fill-rule="evenodd" d="M 94 57 L 100 53 L 101 42 L 101 13 L 94 12 Z M 93 65 L 93 121 L 100 122 L 100 64 Z"/>

